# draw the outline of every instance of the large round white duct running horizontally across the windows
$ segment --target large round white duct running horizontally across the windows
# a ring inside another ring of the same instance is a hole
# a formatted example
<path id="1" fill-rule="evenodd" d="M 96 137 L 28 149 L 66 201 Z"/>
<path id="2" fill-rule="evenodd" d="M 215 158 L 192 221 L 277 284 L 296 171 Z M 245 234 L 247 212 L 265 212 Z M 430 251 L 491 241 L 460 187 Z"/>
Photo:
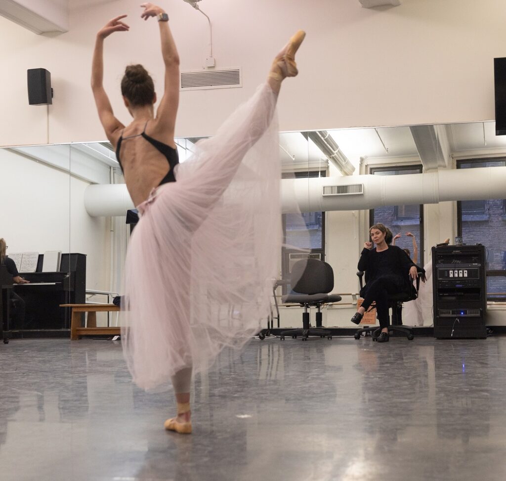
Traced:
<path id="1" fill-rule="evenodd" d="M 329 186 L 341 188 L 329 189 Z M 343 188 L 344 186 L 349 188 Z M 332 195 L 328 195 L 329 191 Z M 281 204 L 284 213 L 297 210 L 352 211 L 381 206 L 494 198 L 506 198 L 506 167 L 281 181 Z M 85 190 L 86 211 L 93 217 L 124 216 L 133 206 L 124 184 L 90 185 Z"/>

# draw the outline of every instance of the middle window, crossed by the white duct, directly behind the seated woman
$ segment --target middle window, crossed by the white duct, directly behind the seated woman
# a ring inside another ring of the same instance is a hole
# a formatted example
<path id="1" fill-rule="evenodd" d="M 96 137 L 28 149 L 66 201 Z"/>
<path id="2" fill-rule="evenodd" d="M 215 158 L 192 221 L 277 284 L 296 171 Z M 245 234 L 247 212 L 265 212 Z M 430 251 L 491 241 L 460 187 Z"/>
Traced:
<path id="1" fill-rule="evenodd" d="M 406 175 L 421 174 L 422 166 L 405 167 L 381 167 L 372 168 L 370 173 L 373 175 Z M 402 237 L 396 240 L 395 245 L 401 249 L 409 249 L 411 258 L 413 258 L 413 241 L 411 237 L 405 235 L 405 232 L 411 232 L 418 246 L 417 259 L 413 259 L 417 264 L 423 264 L 424 260 L 424 206 L 423 204 L 406 206 L 386 206 L 371 209 L 369 211 L 369 225 L 381 222 L 385 224 L 393 234 L 400 233 Z"/>

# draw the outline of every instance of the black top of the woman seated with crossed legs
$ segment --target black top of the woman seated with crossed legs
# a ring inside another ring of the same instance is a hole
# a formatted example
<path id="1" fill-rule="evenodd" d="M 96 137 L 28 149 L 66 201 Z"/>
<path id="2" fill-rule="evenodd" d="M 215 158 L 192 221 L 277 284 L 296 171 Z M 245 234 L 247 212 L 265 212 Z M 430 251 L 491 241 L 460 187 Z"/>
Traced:
<path id="1" fill-rule="evenodd" d="M 397 246 L 389 246 L 381 252 L 377 252 L 376 248 L 369 250 L 364 247 L 358 261 L 358 269 L 365 271 L 366 283 L 381 276 L 388 276 L 401 291 L 409 287 L 409 269 L 413 265 L 420 269 Z"/>

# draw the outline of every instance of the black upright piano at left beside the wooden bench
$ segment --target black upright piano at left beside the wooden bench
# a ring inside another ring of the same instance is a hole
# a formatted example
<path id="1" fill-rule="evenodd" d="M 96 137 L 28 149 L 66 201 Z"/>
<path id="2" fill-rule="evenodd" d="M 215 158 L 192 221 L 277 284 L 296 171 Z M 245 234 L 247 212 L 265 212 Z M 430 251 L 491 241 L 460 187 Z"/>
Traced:
<path id="1" fill-rule="evenodd" d="M 35 272 L 20 272 L 29 284 L 15 284 L 14 292 L 26 305 L 20 330 L 70 329 L 70 309 L 60 304 L 84 304 L 86 300 L 86 254 L 62 254 L 58 272 L 41 272 L 39 254 Z"/>

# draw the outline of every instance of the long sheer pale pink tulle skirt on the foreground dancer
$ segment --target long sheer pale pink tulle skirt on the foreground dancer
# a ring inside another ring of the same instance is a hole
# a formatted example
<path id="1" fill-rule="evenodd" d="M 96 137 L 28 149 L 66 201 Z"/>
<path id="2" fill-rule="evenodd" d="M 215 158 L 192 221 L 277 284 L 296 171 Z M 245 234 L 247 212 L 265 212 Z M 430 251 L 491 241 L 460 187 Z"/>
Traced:
<path id="1" fill-rule="evenodd" d="M 121 340 L 133 380 L 170 384 L 240 348 L 269 313 L 281 246 L 276 96 L 266 84 L 139 206 Z"/>

